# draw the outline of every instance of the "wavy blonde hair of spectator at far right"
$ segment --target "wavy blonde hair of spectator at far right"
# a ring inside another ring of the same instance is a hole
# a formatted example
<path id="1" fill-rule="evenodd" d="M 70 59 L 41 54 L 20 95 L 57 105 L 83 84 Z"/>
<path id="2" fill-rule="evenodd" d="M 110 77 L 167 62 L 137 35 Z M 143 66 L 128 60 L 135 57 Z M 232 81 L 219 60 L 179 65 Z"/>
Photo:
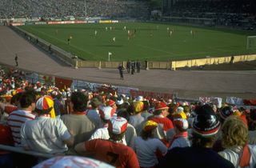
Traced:
<path id="1" fill-rule="evenodd" d="M 248 142 L 248 127 L 238 116 L 231 115 L 222 125 L 222 146 L 244 146 Z"/>

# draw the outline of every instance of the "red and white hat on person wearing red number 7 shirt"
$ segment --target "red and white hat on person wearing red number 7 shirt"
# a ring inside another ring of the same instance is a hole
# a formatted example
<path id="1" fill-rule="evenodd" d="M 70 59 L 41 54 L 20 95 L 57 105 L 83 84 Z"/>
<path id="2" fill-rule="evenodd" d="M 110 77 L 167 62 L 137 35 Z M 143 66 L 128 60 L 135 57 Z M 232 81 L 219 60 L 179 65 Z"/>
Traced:
<path id="1" fill-rule="evenodd" d="M 122 134 L 126 131 L 127 124 L 126 118 L 113 117 L 110 118 L 108 130 L 113 134 Z"/>

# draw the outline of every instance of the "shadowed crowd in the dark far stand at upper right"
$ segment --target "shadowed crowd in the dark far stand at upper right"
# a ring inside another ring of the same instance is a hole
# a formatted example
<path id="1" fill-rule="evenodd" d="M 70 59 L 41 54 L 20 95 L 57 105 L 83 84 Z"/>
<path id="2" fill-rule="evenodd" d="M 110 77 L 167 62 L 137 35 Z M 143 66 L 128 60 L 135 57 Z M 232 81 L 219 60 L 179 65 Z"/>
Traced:
<path id="1" fill-rule="evenodd" d="M 254 1 L 178 1 L 165 15 L 182 18 L 213 18 L 216 25 L 256 29 Z"/>

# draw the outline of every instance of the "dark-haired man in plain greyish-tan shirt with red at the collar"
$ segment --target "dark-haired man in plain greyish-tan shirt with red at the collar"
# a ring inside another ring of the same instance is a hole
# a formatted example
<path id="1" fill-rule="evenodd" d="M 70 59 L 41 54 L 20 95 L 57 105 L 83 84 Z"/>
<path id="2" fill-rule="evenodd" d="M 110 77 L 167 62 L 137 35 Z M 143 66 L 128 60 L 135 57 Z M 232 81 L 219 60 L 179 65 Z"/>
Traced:
<path id="1" fill-rule="evenodd" d="M 62 121 L 74 134 L 74 146 L 80 142 L 87 141 L 94 133 L 94 123 L 86 116 L 87 98 L 82 92 L 73 92 L 71 94 L 71 114 L 62 115 Z M 70 148 L 69 154 L 74 154 L 74 148 Z"/>

